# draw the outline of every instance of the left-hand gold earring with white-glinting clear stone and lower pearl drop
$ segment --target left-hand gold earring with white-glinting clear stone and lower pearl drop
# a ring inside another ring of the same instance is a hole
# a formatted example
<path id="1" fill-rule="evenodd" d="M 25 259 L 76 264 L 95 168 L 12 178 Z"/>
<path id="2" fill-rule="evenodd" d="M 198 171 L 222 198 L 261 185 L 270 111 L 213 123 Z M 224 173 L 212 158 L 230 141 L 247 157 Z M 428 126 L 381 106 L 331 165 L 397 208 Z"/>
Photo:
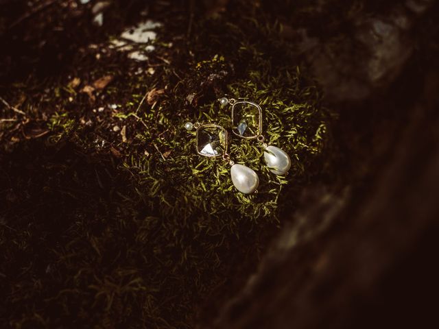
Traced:
<path id="1" fill-rule="evenodd" d="M 257 173 L 244 166 L 230 160 L 227 153 L 228 132 L 224 127 L 213 123 L 185 123 L 185 128 L 190 131 L 195 127 L 195 150 L 200 156 L 207 158 L 222 158 L 230 165 L 230 177 L 233 185 L 241 193 L 250 194 L 256 191 L 259 186 Z"/>

